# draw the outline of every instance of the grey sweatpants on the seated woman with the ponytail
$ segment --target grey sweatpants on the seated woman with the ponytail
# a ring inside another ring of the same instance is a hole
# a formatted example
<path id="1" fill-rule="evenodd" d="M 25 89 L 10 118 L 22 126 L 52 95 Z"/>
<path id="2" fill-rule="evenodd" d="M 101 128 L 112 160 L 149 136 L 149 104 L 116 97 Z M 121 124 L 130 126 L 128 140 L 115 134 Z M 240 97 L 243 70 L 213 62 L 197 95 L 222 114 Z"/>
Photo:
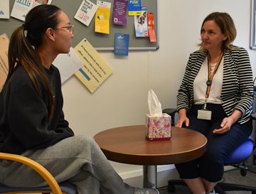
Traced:
<path id="1" fill-rule="evenodd" d="M 100 147 L 85 136 L 63 139 L 46 149 L 22 154 L 41 163 L 58 183 L 68 180 L 80 194 L 132 194 L 134 188 L 123 182 Z M 31 168 L 0 160 L 0 183 L 14 187 L 46 185 Z"/>

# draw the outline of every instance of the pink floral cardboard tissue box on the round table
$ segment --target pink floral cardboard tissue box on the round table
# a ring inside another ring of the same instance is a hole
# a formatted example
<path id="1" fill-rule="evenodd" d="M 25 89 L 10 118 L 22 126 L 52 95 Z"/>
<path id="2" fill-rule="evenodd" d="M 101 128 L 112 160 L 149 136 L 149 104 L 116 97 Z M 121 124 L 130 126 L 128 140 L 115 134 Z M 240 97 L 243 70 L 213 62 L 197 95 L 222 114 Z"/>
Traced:
<path id="1" fill-rule="evenodd" d="M 171 139 L 171 116 L 162 114 L 160 117 L 146 114 L 146 139 L 162 141 Z"/>

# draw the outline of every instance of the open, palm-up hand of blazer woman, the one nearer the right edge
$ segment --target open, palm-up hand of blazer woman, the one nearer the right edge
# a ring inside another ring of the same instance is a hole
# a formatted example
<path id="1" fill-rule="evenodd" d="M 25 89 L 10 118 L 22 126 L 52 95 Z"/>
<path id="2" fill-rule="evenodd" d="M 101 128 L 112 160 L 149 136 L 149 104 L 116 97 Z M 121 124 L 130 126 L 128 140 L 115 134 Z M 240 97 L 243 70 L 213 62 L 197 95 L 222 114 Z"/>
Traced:
<path id="1" fill-rule="evenodd" d="M 242 112 L 235 110 L 230 117 L 225 117 L 223 122 L 220 124 L 220 129 L 214 129 L 213 134 L 224 134 L 225 132 L 229 131 L 231 126 L 237 122 L 237 120 L 242 116 Z"/>

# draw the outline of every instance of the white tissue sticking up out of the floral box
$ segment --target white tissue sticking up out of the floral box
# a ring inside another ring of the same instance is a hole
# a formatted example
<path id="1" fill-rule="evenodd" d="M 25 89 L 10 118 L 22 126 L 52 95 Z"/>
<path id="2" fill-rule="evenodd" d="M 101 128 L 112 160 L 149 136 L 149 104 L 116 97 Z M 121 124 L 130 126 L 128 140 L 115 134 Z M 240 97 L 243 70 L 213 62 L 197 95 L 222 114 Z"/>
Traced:
<path id="1" fill-rule="evenodd" d="M 152 114 L 156 117 L 162 116 L 161 103 L 159 102 L 159 99 L 156 97 L 156 94 L 152 89 L 149 89 L 148 104 L 149 114 Z"/>

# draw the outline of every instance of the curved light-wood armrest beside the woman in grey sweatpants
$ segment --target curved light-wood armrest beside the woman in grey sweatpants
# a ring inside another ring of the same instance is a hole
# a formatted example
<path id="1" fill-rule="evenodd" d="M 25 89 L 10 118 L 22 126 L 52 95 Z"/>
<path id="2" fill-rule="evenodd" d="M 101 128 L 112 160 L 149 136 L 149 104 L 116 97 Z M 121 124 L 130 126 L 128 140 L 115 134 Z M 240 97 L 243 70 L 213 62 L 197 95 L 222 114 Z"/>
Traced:
<path id="1" fill-rule="evenodd" d="M 41 164 L 37 163 L 36 161 L 33 161 L 32 159 L 25 156 L 2 152 L 0 152 L 0 159 L 16 161 L 18 163 L 23 163 L 26 166 L 29 166 L 34 171 L 36 171 L 44 180 L 46 180 L 46 183 L 48 183 L 48 185 L 50 186 L 53 194 L 62 194 L 60 186 L 58 185 L 55 178 L 50 174 L 49 171 L 46 170 L 46 168 L 41 166 Z"/>

